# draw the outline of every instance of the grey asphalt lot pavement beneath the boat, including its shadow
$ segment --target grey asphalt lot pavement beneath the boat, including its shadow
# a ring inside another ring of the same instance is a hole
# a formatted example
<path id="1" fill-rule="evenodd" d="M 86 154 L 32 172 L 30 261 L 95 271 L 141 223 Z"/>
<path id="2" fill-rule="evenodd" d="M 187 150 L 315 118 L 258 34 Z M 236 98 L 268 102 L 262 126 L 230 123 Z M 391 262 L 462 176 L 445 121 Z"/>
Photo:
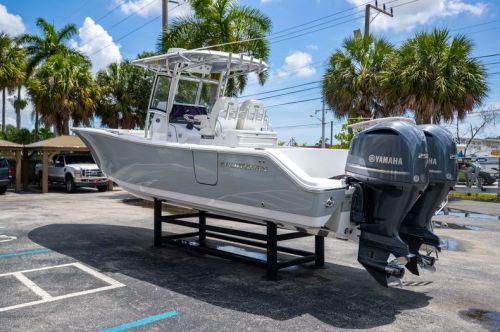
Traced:
<path id="1" fill-rule="evenodd" d="M 435 273 L 407 273 L 402 286 L 381 287 L 357 245 L 335 239 L 324 268 L 288 268 L 276 282 L 254 266 L 154 248 L 152 208 L 119 189 L 8 192 L 0 331 L 500 331 L 500 222 L 436 220 L 448 250 Z M 314 250 L 312 238 L 289 242 Z"/>

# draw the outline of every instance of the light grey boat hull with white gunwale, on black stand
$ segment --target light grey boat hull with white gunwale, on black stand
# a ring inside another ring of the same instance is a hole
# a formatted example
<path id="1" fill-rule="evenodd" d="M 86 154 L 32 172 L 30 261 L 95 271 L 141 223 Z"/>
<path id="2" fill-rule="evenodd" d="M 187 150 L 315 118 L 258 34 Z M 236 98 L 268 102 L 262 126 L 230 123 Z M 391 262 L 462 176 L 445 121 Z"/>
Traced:
<path id="1" fill-rule="evenodd" d="M 293 153 L 287 158 L 274 151 L 286 149 L 178 144 L 102 129 L 76 132 L 103 172 L 136 196 L 310 232 L 349 233 L 349 212 L 342 206 L 349 206 L 343 203 L 352 190 L 340 180 L 308 176 L 300 167 L 304 160 L 293 163 Z M 337 154 L 343 165 L 344 152 Z"/>

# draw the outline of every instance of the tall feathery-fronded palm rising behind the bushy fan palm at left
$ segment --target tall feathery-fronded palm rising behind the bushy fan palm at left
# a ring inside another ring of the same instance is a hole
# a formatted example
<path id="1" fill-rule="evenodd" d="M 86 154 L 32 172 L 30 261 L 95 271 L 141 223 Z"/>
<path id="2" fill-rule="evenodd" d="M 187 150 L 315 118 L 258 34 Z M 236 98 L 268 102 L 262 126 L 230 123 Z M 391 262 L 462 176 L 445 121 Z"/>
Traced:
<path id="1" fill-rule="evenodd" d="M 76 34 L 76 25 L 67 24 L 62 29 L 56 30 L 52 24 L 48 23 L 43 18 L 38 18 L 36 25 L 42 31 L 41 36 L 25 34 L 20 37 L 20 42 L 25 46 L 29 58 L 26 66 L 27 79 L 31 77 L 37 66 L 47 61 L 53 55 L 80 55 L 80 53 L 68 48 L 65 44 Z M 37 110 L 38 107 L 35 105 L 35 136 L 38 136 L 39 131 L 39 113 Z M 38 137 L 35 137 L 35 140 L 37 140 L 37 138 Z"/>

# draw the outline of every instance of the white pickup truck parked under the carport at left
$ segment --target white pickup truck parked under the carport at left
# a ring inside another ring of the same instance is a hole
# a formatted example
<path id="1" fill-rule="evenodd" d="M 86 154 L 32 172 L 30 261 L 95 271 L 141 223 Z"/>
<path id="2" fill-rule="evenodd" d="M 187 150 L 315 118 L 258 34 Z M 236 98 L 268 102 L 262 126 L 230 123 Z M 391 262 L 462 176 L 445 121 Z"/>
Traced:
<path id="1" fill-rule="evenodd" d="M 108 179 L 97 167 L 91 155 L 56 155 L 49 160 L 49 182 L 64 183 L 67 192 L 77 187 L 97 187 L 100 192 L 108 188 Z M 42 164 L 35 165 L 38 184 L 42 183 Z"/>

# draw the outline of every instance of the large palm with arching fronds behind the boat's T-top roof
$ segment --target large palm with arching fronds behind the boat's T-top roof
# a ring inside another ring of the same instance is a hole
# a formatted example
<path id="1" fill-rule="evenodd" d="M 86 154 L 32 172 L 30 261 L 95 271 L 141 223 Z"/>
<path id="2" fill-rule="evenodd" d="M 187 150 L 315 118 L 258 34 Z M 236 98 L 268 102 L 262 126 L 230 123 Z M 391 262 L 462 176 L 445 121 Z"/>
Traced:
<path id="1" fill-rule="evenodd" d="M 158 48 L 167 52 L 172 47 L 195 49 L 212 45 L 233 43 L 211 48 L 212 50 L 248 53 L 266 61 L 269 57 L 269 41 L 265 38 L 271 31 L 271 20 L 260 10 L 240 6 L 237 0 L 191 0 L 193 14 L 176 18 L 167 34 L 162 34 Z M 239 42 L 249 40 L 247 42 Z M 250 41 L 251 40 L 251 41 Z M 259 75 L 263 84 L 266 75 Z M 228 95 L 242 92 L 247 76 L 230 79 L 226 88 Z"/>

